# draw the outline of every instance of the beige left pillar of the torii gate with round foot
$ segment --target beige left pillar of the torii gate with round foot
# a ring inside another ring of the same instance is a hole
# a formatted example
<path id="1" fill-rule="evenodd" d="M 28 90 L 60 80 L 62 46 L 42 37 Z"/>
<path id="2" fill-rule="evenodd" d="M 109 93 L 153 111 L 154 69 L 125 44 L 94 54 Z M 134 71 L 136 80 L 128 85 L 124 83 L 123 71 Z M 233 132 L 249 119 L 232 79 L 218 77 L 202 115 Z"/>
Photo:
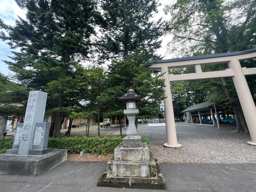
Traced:
<path id="1" fill-rule="evenodd" d="M 162 78 L 164 79 L 165 83 L 164 90 L 166 96 L 166 98 L 164 99 L 164 116 L 166 124 L 167 143 L 164 143 L 164 147 L 179 148 L 182 145 L 177 142 L 168 66 L 162 66 L 161 73 L 163 74 Z"/>

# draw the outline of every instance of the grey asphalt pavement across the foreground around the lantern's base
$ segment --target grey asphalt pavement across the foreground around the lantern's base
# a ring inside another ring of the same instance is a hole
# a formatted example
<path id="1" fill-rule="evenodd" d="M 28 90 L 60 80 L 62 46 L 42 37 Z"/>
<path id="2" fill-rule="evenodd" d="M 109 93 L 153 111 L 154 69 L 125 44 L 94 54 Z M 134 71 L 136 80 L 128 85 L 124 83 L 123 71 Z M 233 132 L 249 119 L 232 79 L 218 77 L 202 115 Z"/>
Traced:
<path id="1" fill-rule="evenodd" d="M 161 163 L 168 192 L 255 192 L 256 164 Z M 106 162 L 72 162 L 39 176 L 0 175 L 1 192 L 146 192 L 97 187 Z"/>

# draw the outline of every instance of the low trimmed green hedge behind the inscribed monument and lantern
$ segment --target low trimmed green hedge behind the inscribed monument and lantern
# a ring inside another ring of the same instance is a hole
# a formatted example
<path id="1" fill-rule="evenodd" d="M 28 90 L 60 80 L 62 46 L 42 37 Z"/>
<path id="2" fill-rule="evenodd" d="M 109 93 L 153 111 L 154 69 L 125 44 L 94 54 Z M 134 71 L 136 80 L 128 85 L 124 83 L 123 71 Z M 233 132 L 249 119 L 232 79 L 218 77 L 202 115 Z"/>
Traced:
<path id="1" fill-rule="evenodd" d="M 12 139 L 0 140 L 0 153 L 12 148 Z M 142 142 L 149 144 L 149 139 L 142 136 Z M 68 153 L 85 153 L 103 154 L 113 153 L 118 144 L 122 143 L 120 137 L 64 137 L 49 138 L 48 147 L 52 149 L 67 149 Z"/>

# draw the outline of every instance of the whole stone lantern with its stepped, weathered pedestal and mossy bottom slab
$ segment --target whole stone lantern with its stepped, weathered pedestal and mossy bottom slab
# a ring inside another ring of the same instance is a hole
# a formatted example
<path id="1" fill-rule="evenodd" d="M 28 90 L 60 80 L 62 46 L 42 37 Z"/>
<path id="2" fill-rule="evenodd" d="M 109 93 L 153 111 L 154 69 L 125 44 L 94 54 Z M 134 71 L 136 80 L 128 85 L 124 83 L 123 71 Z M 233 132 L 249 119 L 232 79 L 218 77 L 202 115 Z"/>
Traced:
<path id="1" fill-rule="evenodd" d="M 98 186 L 118 188 L 165 189 L 164 178 L 158 162 L 149 153 L 148 144 L 142 143 L 135 126 L 136 101 L 140 95 L 130 89 L 119 100 L 126 102 L 129 125 L 123 143 L 114 150 L 114 157 L 107 163 L 107 170 L 98 181 Z"/>

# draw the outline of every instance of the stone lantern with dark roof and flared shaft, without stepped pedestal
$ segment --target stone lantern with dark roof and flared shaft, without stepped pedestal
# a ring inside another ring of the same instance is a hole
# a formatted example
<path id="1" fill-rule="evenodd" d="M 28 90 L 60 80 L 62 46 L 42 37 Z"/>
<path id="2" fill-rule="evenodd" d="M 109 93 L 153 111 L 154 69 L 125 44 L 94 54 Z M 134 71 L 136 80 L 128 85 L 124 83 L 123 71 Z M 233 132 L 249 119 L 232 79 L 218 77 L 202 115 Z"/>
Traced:
<path id="1" fill-rule="evenodd" d="M 126 135 L 138 135 L 138 131 L 135 126 L 135 119 L 136 115 L 139 113 L 139 110 L 136 108 L 136 101 L 140 100 L 140 95 L 136 94 L 134 90 L 130 89 L 122 97 L 118 97 L 118 99 L 126 102 L 126 109 L 124 110 L 124 114 L 126 114 L 129 121 Z"/>

